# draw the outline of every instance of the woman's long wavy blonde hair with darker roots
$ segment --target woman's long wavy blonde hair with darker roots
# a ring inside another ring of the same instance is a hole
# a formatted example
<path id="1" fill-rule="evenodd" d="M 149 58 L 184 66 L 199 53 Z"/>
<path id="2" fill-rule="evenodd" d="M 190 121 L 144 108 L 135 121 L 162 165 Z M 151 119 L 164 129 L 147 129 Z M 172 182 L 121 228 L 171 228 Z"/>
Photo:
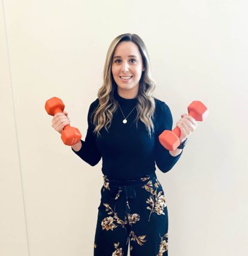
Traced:
<path id="1" fill-rule="evenodd" d="M 131 41 L 138 46 L 140 50 L 142 61 L 144 65 L 144 71 L 142 72 L 139 89 L 137 95 L 137 116 L 136 116 L 136 127 L 138 128 L 138 120 L 146 125 L 149 136 L 151 136 L 154 131 L 153 116 L 155 113 L 155 98 L 152 93 L 156 88 L 155 81 L 151 77 L 151 67 L 150 59 L 146 49 L 146 45 L 143 40 L 137 34 L 122 34 L 114 38 L 108 48 L 107 56 L 104 65 L 104 80 L 103 85 L 98 91 L 99 104 L 96 110 L 92 113 L 93 125 L 95 129 L 93 132 L 98 136 L 100 134 L 100 129 L 104 127 L 107 131 L 111 125 L 113 118 L 113 113 L 116 112 L 118 108 L 118 103 L 114 98 L 114 89 L 116 88 L 116 83 L 113 79 L 113 74 L 111 72 L 111 66 L 113 62 L 113 54 L 117 45 L 122 41 Z M 90 118 L 92 118 L 92 116 Z"/>

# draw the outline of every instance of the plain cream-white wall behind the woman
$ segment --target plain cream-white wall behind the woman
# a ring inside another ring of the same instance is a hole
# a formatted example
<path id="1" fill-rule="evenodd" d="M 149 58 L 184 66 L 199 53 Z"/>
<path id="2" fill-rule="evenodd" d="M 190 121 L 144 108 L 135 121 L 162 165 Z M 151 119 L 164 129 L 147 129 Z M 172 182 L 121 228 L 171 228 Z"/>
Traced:
<path id="1" fill-rule="evenodd" d="M 0 2 L 0 255 L 93 255 L 102 173 L 63 145 L 44 110 L 62 98 L 87 131 L 117 35 L 140 35 L 155 97 L 174 124 L 193 100 L 210 111 L 173 170 L 171 256 L 247 255 L 247 7 L 241 0 Z M 151 255 L 152 256 L 152 255 Z"/>

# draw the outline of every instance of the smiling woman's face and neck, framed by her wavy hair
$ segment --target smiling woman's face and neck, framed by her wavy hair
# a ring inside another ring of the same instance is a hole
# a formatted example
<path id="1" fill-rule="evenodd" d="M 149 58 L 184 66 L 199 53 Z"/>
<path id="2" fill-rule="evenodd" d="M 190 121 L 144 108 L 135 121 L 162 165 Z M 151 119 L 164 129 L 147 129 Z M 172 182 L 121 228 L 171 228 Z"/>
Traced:
<path id="1" fill-rule="evenodd" d="M 123 41 L 118 44 L 114 50 L 111 70 L 118 91 L 123 95 L 136 97 L 144 66 L 142 56 L 135 43 Z"/>

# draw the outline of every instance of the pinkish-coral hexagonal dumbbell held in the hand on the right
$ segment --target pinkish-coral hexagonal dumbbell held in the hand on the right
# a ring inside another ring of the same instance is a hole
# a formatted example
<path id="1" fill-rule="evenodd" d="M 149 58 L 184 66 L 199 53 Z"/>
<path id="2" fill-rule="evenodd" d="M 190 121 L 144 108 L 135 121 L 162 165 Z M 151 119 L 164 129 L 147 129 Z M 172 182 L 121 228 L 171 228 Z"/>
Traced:
<path id="1" fill-rule="evenodd" d="M 196 121 L 204 121 L 208 116 L 208 109 L 201 101 L 192 101 L 187 107 L 187 112 Z M 159 135 L 159 142 L 167 150 L 173 151 L 180 145 L 180 134 L 181 130 L 179 127 L 174 128 L 172 131 L 165 130 Z"/>

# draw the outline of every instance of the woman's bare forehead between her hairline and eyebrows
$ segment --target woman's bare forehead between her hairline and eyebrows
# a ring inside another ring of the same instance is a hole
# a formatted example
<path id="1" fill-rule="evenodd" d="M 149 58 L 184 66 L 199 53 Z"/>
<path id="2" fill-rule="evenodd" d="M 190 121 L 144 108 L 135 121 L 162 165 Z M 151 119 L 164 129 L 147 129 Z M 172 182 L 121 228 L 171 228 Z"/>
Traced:
<path id="1" fill-rule="evenodd" d="M 129 56 L 129 55 L 136 55 L 141 58 L 140 50 L 138 46 L 130 41 L 123 41 L 119 43 L 114 50 L 114 56 Z"/>

